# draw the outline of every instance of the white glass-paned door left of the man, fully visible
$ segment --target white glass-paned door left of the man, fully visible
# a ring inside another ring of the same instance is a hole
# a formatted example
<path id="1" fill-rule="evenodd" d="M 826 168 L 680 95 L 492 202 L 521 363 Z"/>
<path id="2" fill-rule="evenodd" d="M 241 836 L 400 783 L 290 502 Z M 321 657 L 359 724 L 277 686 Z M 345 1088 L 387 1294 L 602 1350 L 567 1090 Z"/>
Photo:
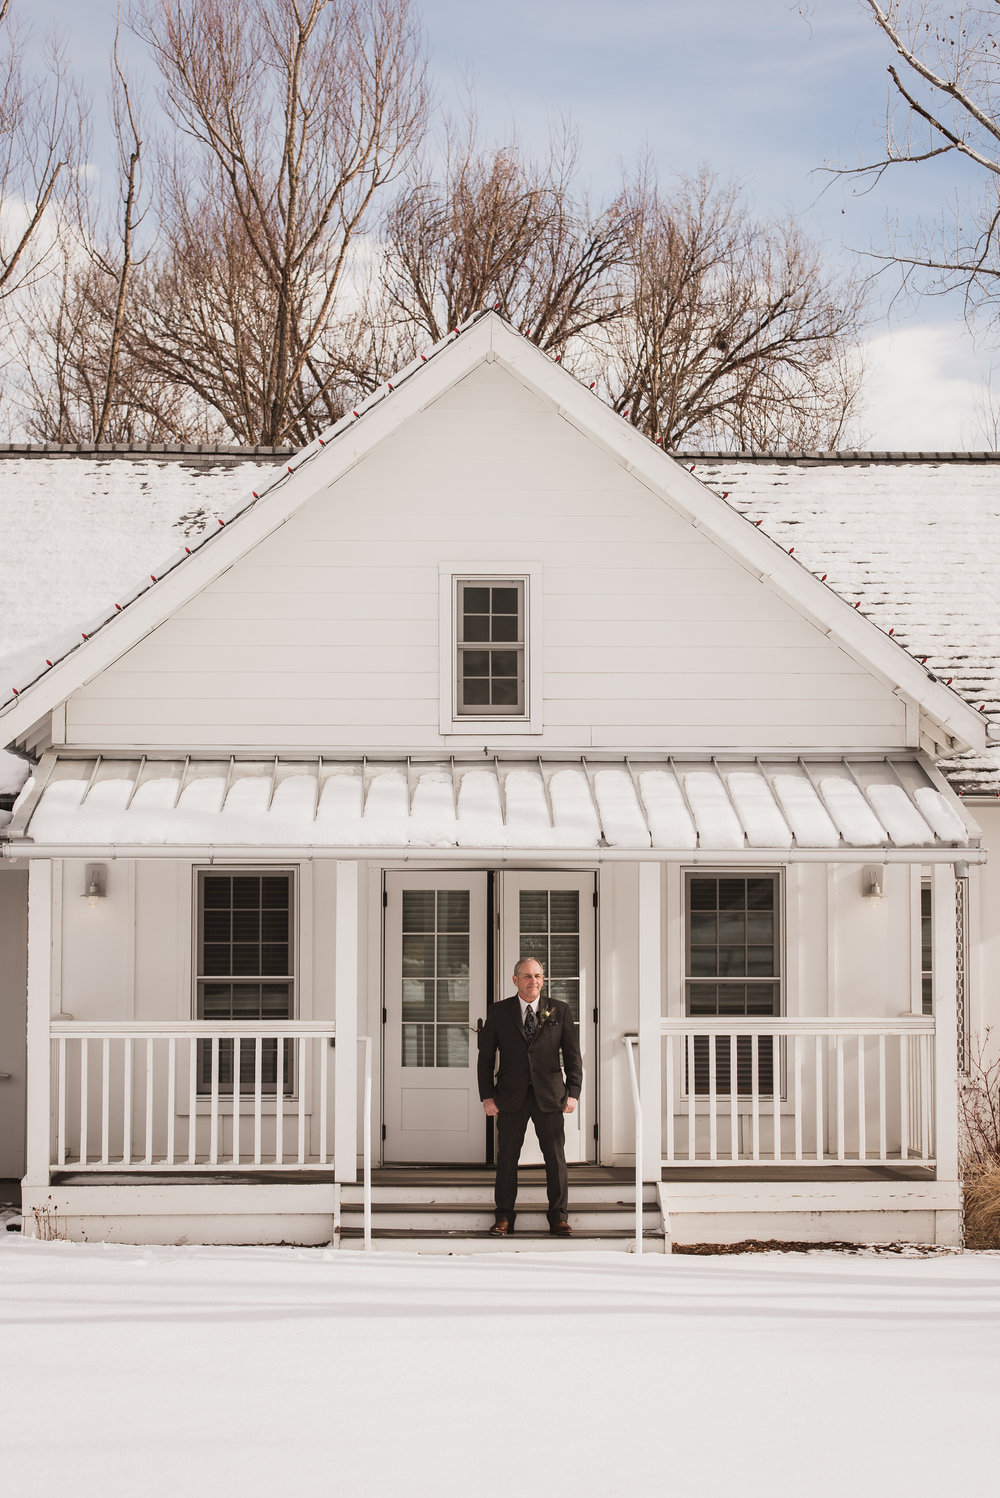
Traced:
<path id="1" fill-rule="evenodd" d="M 389 873 L 385 915 L 383 1158 L 482 1164 L 487 875 Z"/>

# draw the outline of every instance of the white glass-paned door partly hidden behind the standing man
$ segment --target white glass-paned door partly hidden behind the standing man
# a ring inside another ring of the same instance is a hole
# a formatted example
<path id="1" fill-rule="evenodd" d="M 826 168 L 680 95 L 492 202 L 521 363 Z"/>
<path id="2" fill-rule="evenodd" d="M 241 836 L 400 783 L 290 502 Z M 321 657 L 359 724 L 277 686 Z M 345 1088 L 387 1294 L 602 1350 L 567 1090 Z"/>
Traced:
<path id="1" fill-rule="evenodd" d="M 575 1113 L 566 1118 L 566 1159 L 579 1164 L 596 1159 L 594 1073 L 594 963 L 596 920 L 593 873 L 499 875 L 500 894 L 500 990 L 513 993 L 510 975 L 521 957 L 536 957 L 545 969 L 546 996 L 564 999 L 579 1028 L 584 1056 L 584 1088 Z M 540 1164 L 542 1150 L 528 1129 L 521 1162 Z"/>

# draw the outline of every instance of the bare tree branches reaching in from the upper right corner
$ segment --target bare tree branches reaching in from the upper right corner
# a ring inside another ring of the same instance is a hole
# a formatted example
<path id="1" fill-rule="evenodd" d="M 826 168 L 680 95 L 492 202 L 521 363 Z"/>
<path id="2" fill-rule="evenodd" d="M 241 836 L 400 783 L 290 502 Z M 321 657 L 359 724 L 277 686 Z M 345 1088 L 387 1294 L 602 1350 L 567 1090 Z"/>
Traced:
<path id="1" fill-rule="evenodd" d="M 903 268 L 916 289 L 961 289 L 970 313 L 993 321 L 1000 301 L 1000 51 L 999 9 L 943 0 L 859 0 L 895 51 L 889 63 L 885 154 L 847 174 L 877 181 L 901 165 L 970 163 L 966 190 L 910 238 L 876 258 Z"/>

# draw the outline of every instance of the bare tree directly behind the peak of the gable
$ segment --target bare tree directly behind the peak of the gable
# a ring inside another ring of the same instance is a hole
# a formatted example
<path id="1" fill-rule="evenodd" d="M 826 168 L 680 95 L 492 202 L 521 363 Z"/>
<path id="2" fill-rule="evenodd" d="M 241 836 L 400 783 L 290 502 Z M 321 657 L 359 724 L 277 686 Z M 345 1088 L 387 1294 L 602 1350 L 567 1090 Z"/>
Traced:
<path id="1" fill-rule="evenodd" d="M 385 223 L 382 318 L 406 354 L 484 306 L 560 354 L 615 316 L 621 204 L 591 213 L 572 192 L 575 171 L 566 129 L 533 162 L 516 141 L 484 147 L 472 115 L 461 130 L 446 127 L 440 178 L 424 169 Z"/>

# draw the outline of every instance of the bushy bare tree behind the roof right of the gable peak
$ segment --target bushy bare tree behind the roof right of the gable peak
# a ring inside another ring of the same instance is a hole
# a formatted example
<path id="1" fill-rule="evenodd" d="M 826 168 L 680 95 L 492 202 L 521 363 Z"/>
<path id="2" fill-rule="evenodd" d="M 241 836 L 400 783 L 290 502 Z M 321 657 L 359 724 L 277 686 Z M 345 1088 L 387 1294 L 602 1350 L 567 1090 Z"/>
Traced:
<path id="1" fill-rule="evenodd" d="M 759 223 L 708 171 L 627 193 L 608 392 L 665 446 L 834 446 L 855 412 L 862 298 L 793 222 Z"/>

